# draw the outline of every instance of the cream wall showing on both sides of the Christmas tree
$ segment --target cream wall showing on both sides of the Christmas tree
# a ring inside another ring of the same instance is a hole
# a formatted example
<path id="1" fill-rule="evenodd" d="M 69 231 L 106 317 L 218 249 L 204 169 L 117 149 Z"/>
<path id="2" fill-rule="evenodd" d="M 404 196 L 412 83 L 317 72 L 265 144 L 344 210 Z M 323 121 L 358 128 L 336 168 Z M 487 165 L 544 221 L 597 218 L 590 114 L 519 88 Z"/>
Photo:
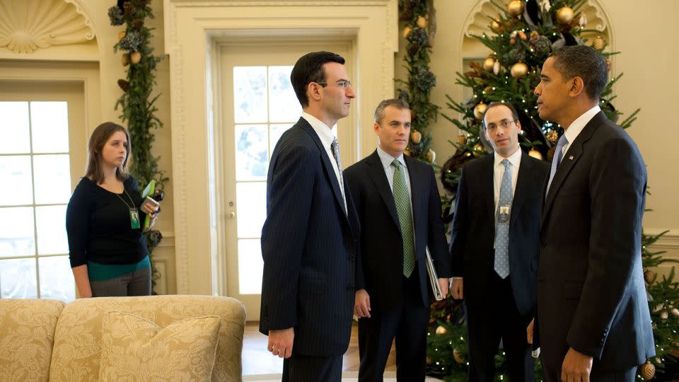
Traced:
<path id="1" fill-rule="evenodd" d="M 658 241 L 656 248 L 668 250 L 668 255 L 679 258 L 679 202 L 674 192 L 679 190 L 679 150 L 675 134 L 679 128 L 677 117 L 663 115 L 676 108 L 675 94 L 679 88 L 679 74 L 675 70 L 679 51 L 673 47 L 679 35 L 675 16 L 679 13 L 679 1 L 656 0 L 642 4 L 636 0 L 590 0 L 600 4 L 608 14 L 612 30 L 613 72 L 625 72 L 614 87 L 618 110 L 629 113 L 642 108 L 634 125 L 628 130 L 644 156 L 649 173 L 652 195 L 646 199 L 646 207 L 654 209 L 644 216 L 644 228 L 648 233 L 670 229 L 671 232 Z M 446 112 L 446 93 L 455 100 L 462 100 L 461 86 L 455 85 L 456 71 L 462 67 L 460 33 L 463 25 L 477 6 L 477 0 L 436 0 L 437 31 L 431 54 L 431 70 L 437 77 L 437 85 L 431 100 L 443 106 Z M 405 78 L 402 69 L 403 39 L 395 65 L 395 77 Z M 449 110 L 448 110 L 449 111 Z M 451 115 L 450 112 L 446 112 Z M 443 164 L 453 154 L 448 143 L 458 135 L 458 129 L 447 120 L 439 118 L 431 129 L 437 163 Z"/>

